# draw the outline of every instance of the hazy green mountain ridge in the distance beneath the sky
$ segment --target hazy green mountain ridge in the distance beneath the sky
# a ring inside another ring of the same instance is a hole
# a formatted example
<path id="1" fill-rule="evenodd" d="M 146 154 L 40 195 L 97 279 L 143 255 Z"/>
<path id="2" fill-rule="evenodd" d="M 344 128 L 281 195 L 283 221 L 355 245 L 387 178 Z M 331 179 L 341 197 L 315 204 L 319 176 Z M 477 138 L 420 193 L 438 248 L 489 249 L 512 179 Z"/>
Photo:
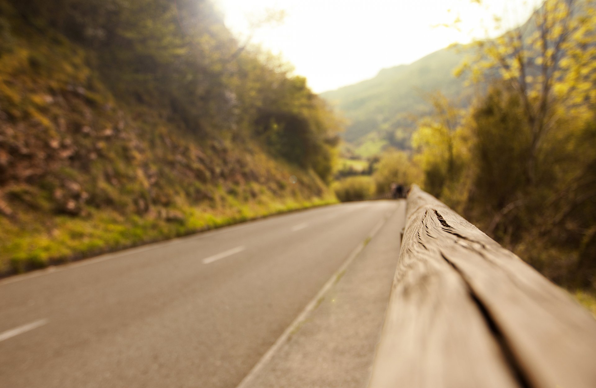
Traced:
<path id="1" fill-rule="evenodd" d="M 357 153 L 368 157 L 386 145 L 409 148 L 411 114 L 424 114 L 424 94 L 440 90 L 461 96 L 464 80 L 453 75 L 467 52 L 445 48 L 409 65 L 380 70 L 377 76 L 354 85 L 321 93 L 321 97 L 349 120 L 343 138 Z"/>

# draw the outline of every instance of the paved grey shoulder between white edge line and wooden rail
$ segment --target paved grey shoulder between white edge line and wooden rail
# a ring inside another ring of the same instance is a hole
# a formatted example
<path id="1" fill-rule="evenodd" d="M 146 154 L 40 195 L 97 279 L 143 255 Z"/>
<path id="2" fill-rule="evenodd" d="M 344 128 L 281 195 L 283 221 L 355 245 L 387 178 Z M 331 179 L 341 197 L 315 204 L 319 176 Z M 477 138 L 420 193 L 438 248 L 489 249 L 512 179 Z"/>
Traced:
<path id="1" fill-rule="evenodd" d="M 364 388 L 383 326 L 405 222 L 402 201 L 316 308 L 242 388 Z"/>

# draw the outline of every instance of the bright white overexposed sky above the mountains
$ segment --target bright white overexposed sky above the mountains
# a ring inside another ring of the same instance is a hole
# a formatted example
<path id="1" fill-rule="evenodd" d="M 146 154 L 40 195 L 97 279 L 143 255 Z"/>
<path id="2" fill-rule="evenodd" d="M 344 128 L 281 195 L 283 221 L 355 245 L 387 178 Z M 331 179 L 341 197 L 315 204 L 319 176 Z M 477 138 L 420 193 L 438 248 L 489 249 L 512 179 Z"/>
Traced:
<path id="1" fill-rule="evenodd" d="M 226 25 L 249 35 L 247 15 L 284 10 L 284 23 L 257 30 L 260 43 L 291 62 L 315 92 L 374 77 L 381 68 L 414 62 L 451 43 L 497 35 L 493 15 L 504 26 L 523 23 L 539 0 L 215 0 Z M 460 17 L 460 31 L 437 27 Z"/>

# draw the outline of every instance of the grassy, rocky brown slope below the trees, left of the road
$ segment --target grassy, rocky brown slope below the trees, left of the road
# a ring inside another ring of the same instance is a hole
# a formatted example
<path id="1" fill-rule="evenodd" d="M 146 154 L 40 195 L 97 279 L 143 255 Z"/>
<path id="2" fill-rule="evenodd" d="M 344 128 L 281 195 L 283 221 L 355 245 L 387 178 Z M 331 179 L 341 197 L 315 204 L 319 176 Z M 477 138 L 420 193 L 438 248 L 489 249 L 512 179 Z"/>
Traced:
<path id="1" fill-rule="evenodd" d="M 64 37 L 4 29 L 0 275 L 336 201 L 256 145 L 116 101 Z"/>

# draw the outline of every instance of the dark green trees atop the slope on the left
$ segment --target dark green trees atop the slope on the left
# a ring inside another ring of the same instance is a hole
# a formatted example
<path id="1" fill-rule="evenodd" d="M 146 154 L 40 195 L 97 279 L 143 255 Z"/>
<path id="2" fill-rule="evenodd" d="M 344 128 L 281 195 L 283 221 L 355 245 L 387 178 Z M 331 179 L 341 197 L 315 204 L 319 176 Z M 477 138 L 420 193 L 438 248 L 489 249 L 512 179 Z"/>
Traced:
<path id="1" fill-rule="evenodd" d="M 85 47 L 122 101 L 162 111 L 201 137 L 263 139 L 272 154 L 330 179 L 340 122 L 303 77 L 240 46 L 211 1 L 58 0 L 49 7 L 23 0 L 14 7 L 27 23 Z M 32 68 L 42 67 L 44 58 L 32 55 Z"/>

